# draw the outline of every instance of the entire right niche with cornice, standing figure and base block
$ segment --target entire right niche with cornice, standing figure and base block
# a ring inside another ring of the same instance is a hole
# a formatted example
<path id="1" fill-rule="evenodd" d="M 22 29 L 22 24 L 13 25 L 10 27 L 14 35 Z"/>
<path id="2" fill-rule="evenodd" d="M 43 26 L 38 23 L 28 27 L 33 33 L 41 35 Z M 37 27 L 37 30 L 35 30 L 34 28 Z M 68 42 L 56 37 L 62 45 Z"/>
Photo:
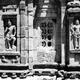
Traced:
<path id="1" fill-rule="evenodd" d="M 66 12 L 66 54 L 69 65 L 77 66 L 80 65 L 80 1 L 68 2 Z"/>

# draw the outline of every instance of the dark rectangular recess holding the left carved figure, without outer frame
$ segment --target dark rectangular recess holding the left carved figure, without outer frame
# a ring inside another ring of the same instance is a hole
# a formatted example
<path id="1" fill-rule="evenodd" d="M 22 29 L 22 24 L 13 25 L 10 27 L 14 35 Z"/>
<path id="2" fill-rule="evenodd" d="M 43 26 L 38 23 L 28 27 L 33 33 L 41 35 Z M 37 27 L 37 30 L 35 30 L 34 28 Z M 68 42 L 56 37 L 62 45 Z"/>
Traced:
<path id="1" fill-rule="evenodd" d="M 5 50 L 17 50 L 17 15 L 3 15 Z"/>

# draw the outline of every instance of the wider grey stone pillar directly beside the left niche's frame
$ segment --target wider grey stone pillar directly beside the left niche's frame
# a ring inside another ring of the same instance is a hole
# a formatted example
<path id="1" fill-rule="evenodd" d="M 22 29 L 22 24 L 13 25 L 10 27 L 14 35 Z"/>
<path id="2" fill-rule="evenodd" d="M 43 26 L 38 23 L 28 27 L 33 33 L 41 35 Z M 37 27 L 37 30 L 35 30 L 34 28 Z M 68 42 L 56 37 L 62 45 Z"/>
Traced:
<path id="1" fill-rule="evenodd" d="M 28 39 L 26 40 L 26 37 L 28 37 L 28 28 L 27 28 L 27 11 L 26 11 L 26 5 L 25 0 L 22 0 L 20 2 L 20 52 L 21 52 L 21 63 L 26 64 L 27 63 L 27 56 L 28 56 Z M 27 30 L 27 31 L 26 31 Z"/>

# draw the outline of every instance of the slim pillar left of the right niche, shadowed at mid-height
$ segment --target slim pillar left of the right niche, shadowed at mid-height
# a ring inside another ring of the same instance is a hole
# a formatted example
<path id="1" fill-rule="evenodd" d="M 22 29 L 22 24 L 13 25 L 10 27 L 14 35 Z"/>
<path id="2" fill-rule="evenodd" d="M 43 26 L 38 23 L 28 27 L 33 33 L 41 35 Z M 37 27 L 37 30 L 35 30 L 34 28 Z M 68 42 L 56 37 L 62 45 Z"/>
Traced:
<path id="1" fill-rule="evenodd" d="M 64 18 L 65 18 L 65 6 L 61 7 L 61 64 L 65 65 L 65 26 L 64 26 Z"/>

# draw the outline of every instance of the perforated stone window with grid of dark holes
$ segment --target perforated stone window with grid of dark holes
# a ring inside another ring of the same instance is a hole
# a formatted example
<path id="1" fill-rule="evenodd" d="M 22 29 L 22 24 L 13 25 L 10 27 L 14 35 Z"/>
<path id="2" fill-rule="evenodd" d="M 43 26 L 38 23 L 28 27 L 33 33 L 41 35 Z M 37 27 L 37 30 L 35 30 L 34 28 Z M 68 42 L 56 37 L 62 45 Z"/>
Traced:
<path id="1" fill-rule="evenodd" d="M 42 33 L 42 46 L 51 47 L 52 46 L 52 40 L 53 40 L 53 23 L 52 22 L 43 22 L 40 25 Z"/>

